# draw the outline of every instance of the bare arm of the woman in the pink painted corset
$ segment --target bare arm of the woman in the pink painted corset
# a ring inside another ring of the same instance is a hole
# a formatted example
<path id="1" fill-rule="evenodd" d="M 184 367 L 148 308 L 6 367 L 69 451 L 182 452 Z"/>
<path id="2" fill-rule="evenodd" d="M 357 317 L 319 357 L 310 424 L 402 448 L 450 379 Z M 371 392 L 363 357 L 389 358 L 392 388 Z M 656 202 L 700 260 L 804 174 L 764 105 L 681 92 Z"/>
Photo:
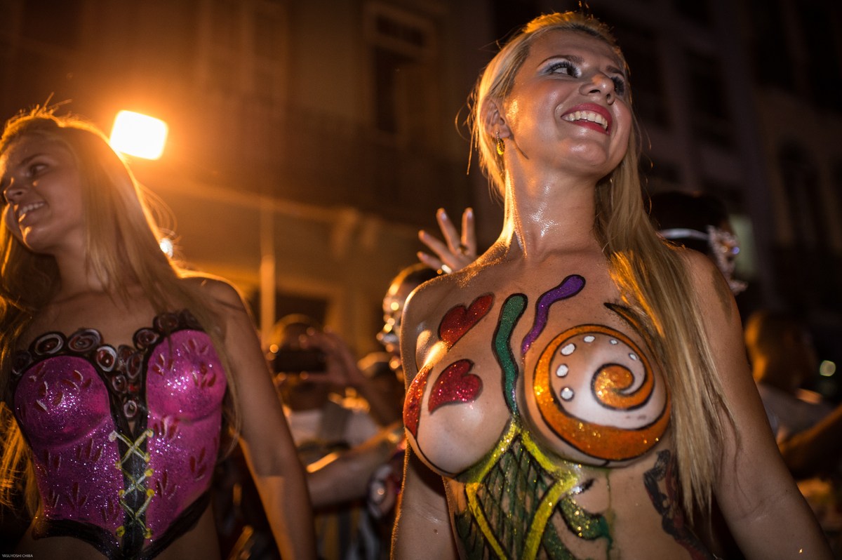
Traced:
<path id="1" fill-rule="evenodd" d="M 232 286 L 220 280 L 205 280 L 204 284 L 209 296 L 220 303 L 228 365 L 237 382 L 240 445 L 274 539 L 285 558 L 315 558 L 304 467 L 298 460 L 251 317 Z"/>

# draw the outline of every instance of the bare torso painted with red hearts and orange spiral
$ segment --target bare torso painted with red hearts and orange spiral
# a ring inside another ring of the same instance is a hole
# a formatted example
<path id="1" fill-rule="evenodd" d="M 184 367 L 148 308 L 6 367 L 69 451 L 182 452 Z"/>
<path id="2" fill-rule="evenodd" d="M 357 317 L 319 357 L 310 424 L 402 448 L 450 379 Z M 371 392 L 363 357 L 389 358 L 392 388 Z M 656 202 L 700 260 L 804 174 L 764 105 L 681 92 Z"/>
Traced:
<path id="1" fill-rule="evenodd" d="M 404 421 L 463 557 L 709 557 L 680 515 L 669 392 L 600 254 L 500 259 L 412 305 Z"/>

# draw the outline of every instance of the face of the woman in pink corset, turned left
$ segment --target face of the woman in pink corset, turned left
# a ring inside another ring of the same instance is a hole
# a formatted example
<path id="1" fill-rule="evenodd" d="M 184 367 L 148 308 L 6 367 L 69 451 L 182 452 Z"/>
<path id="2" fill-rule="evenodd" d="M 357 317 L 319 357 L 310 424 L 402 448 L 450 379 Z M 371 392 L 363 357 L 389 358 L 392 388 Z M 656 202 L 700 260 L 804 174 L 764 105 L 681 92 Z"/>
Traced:
<path id="1" fill-rule="evenodd" d="M 61 142 L 24 136 L 0 156 L 6 225 L 35 253 L 83 243 L 82 185 L 76 160 Z M 81 245 L 80 245 L 81 246 Z"/>

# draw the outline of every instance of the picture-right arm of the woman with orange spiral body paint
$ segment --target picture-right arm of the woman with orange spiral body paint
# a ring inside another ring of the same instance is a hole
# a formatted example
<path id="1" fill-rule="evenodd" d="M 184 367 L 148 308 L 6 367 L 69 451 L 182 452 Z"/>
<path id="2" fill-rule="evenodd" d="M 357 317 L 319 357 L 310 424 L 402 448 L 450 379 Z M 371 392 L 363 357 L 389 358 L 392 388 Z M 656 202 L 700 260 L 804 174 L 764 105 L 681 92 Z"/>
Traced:
<path id="1" fill-rule="evenodd" d="M 831 558 L 813 512 L 787 471 L 749 372 L 742 326 L 722 275 L 686 259 L 734 428 L 727 424 L 714 493 L 747 558 Z"/>

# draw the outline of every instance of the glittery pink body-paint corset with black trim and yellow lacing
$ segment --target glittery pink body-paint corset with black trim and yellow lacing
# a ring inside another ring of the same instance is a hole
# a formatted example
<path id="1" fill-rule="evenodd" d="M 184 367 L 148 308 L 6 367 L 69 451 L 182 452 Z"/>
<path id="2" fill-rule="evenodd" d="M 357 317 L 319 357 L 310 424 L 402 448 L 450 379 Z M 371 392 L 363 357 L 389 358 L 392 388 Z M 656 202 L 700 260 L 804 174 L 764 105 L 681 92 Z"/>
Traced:
<path id="1" fill-rule="evenodd" d="M 13 411 L 43 504 L 36 538 L 153 557 L 206 508 L 226 392 L 216 350 L 186 311 L 156 317 L 133 343 L 86 328 L 15 355 Z"/>

